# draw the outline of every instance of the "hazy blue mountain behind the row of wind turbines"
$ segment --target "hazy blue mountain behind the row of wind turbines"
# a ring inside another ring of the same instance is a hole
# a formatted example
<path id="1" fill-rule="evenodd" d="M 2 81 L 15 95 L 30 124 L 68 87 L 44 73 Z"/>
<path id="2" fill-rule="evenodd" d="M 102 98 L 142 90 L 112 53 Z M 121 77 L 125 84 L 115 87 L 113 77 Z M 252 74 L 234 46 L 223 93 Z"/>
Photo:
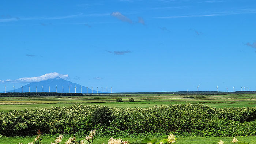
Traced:
<path id="1" fill-rule="evenodd" d="M 35 88 L 37 86 L 37 88 Z M 75 87 L 76 87 L 76 93 L 81 93 L 81 85 L 77 83 L 72 83 L 68 80 L 61 79 L 60 77 L 56 77 L 55 79 L 48 79 L 41 82 L 33 82 L 29 83 L 25 86 L 23 86 L 23 92 L 42 92 L 44 86 L 44 92 L 49 92 L 49 86 L 50 86 L 50 92 L 56 92 L 56 86 L 57 86 L 57 92 L 70 92 L 75 93 Z M 69 88 L 68 88 L 69 86 Z M 63 89 L 62 89 L 63 87 Z M 70 90 L 70 91 L 69 91 Z M 98 93 L 101 93 L 101 87 L 98 88 Z M 6 91 L 6 92 L 13 92 L 13 90 Z M 22 88 L 15 89 L 15 92 L 22 92 Z M 82 86 L 82 93 L 87 93 L 87 87 Z M 88 88 L 88 93 L 92 93 L 92 90 Z M 95 90 L 93 90 L 93 93 L 97 94 L 97 87 L 95 87 Z M 103 93 L 106 93 L 103 91 Z"/>

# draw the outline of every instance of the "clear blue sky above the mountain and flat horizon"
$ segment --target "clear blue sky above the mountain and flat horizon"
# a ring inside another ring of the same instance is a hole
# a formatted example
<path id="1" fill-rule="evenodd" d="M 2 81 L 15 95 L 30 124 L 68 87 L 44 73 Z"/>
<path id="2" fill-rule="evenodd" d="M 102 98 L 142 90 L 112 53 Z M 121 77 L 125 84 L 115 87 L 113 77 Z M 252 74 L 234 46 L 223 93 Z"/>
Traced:
<path id="1" fill-rule="evenodd" d="M 113 92 L 256 90 L 255 19 L 253 0 L 1 1 L 0 91 L 52 72 Z"/>

